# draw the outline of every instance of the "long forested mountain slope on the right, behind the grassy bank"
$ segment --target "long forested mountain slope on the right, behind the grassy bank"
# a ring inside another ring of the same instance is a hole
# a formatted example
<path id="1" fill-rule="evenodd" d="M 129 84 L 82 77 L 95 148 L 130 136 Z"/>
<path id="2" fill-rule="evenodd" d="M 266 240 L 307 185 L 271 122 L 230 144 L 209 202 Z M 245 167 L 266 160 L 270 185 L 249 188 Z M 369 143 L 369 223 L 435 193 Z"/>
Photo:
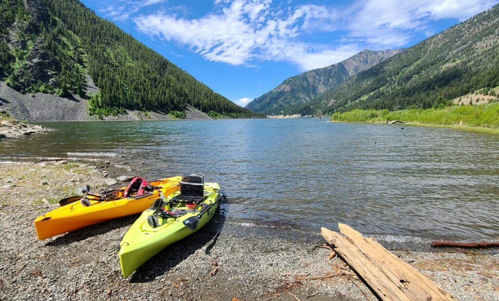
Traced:
<path id="1" fill-rule="evenodd" d="M 360 72 L 284 114 L 430 108 L 499 85 L 499 5 Z"/>

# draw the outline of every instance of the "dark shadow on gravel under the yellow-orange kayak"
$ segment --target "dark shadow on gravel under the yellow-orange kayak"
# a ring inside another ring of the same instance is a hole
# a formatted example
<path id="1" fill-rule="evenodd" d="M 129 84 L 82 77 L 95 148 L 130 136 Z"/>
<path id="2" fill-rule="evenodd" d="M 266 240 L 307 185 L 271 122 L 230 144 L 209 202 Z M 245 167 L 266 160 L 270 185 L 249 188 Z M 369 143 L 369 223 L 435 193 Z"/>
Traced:
<path id="1" fill-rule="evenodd" d="M 57 236 L 54 240 L 49 241 L 45 246 L 64 246 L 72 243 L 83 241 L 87 238 L 106 234 L 107 232 L 120 229 L 123 227 L 129 228 L 133 222 L 137 220 L 140 214 L 129 215 L 125 217 L 115 218 L 102 223 L 90 225 L 78 230 L 68 232 Z"/>

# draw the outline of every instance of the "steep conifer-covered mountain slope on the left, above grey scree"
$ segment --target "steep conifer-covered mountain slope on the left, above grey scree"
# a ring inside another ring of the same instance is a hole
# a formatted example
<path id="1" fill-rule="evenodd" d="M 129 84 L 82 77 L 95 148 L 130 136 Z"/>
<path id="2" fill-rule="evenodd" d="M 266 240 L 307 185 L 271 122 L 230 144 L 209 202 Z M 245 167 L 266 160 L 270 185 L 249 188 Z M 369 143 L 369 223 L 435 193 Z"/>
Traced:
<path id="1" fill-rule="evenodd" d="M 78 0 L 0 2 L 0 78 L 21 93 L 99 92 L 90 113 L 183 111 L 188 104 L 226 117 L 261 117 L 215 93 Z M 215 113 L 216 112 L 216 113 Z"/>

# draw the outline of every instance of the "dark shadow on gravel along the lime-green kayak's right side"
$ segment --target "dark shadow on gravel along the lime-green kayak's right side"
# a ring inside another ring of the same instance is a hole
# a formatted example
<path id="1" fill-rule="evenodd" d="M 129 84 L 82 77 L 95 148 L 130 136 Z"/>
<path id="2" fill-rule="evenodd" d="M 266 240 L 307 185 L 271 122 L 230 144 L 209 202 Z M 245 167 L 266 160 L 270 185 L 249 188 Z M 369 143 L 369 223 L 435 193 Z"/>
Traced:
<path id="1" fill-rule="evenodd" d="M 130 278 L 130 282 L 152 282 L 205 246 L 205 254 L 210 254 L 224 227 L 228 207 L 226 204 L 227 199 L 222 199 L 212 220 L 192 235 L 171 244 L 148 260 L 135 271 Z M 209 245 L 207 246 L 207 244 Z"/>

